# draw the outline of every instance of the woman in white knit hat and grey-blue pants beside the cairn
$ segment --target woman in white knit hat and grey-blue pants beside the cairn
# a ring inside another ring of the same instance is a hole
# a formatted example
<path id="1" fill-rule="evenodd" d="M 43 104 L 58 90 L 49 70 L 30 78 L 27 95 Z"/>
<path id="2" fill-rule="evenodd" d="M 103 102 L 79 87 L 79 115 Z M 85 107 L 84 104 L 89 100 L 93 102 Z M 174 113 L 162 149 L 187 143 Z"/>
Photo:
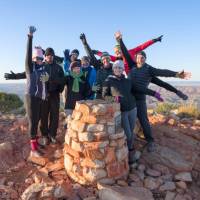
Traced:
<path id="1" fill-rule="evenodd" d="M 135 97 L 132 95 L 131 81 L 123 75 L 124 63 L 117 60 L 113 64 L 113 75 L 108 76 L 103 85 L 103 98 L 112 96 L 120 103 L 122 127 L 127 136 L 129 164 L 134 162 L 134 126 L 137 116 Z"/>

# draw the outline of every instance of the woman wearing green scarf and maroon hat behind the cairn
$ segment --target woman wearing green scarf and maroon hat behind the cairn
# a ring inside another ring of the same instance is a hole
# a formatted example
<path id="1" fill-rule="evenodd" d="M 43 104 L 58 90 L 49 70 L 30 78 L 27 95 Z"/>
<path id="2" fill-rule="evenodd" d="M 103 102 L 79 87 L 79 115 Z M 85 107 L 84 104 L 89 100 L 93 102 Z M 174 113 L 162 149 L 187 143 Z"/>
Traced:
<path id="1" fill-rule="evenodd" d="M 70 115 L 75 108 L 76 101 L 87 99 L 91 95 L 89 83 L 81 71 L 81 63 L 74 61 L 70 64 L 70 73 L 65 77 L 67 85 L 67 101 L 65 102 L 66 115 Z"/>

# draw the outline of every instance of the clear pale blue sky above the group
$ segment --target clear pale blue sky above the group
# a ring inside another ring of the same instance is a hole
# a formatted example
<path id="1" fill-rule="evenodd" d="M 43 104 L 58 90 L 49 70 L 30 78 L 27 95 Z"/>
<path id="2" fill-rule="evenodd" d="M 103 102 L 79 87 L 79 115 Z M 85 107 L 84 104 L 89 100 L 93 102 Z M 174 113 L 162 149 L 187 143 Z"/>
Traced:
<path id="1" fill-rule="evenodd" d="M 110 54 L 118 30 L 129 49 L 164 35 L 145 50 L 147 63 L 184 69 L 192 73 L 190 81 L 200 81 L 199 0 L 0 0 L 0 14 L 0 83 L 16 82 L 4 80 L 6 72 L 24 71 L 30 25 L 37 28 L 33 45 L 53 47 L 59 56 L 74 48 L 85 55 L 82 32 L 91 48 Z"/>

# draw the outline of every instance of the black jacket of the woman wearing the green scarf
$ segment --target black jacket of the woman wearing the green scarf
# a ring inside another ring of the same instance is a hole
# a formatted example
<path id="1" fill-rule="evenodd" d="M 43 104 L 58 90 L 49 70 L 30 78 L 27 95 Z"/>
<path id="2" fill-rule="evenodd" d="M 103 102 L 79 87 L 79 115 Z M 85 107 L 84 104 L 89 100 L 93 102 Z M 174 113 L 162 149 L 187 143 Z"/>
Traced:
<path id="1" fill-rule="evenodd" d="M 73 80 L 72 76 L 65 77 L 65 84 L 67 85 L 67 100 L 65 102 L 65 109 L 74 109 L 76 101 L 85 100 L 91 95 L 91 89 L 89 83 L 86 81 L 85 76 L 81 77 L 83 82 L 79 82 L 79 92 L 73 92 Z"/>

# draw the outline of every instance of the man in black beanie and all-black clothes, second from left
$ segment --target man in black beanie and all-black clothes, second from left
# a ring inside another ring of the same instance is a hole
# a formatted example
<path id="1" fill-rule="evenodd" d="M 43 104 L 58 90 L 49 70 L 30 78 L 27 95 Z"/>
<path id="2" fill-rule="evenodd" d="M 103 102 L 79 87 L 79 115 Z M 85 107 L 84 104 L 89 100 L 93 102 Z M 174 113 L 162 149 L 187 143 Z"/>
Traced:
<path id="1" fill-rule="evenodd" d="M 42 107 L 40 127 L 44 136 L 44 145 L 46 145 L 48 139 L 53 144 L 57 142 L 56 134 L 59 122 L 60 93 L 64 89 L 64 72 L 62 67 L 56 64 L 54 56 L 54 50 L 47 48 L 45 51 L 45 67 L 49 74 L 49 96 Z"/>

